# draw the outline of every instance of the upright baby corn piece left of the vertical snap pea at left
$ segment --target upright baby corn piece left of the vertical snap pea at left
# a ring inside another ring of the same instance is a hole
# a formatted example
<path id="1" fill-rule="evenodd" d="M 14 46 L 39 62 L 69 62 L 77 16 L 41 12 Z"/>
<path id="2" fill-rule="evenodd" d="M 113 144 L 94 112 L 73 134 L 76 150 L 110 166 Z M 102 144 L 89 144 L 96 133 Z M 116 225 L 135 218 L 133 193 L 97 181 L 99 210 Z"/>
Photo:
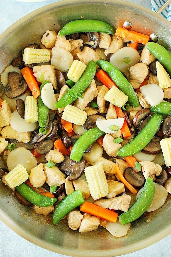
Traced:
<path id="1" fill-rule="evenodd" d="M 31 123 L 38 121 L 37 99 L 34 96 L 26 97 L 24 119 Z"/>

